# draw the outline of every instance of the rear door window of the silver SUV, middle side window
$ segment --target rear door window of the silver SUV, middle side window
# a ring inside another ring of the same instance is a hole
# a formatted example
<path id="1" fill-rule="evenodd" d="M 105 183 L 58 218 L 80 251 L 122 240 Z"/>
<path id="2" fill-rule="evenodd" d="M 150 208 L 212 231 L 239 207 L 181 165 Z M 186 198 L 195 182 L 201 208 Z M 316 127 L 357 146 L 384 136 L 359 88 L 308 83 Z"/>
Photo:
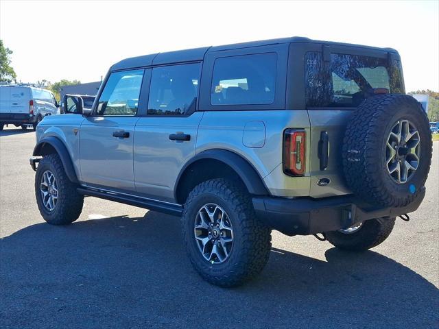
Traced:
<path id="1" fill-rule="evenodd" d="M 195 110 L 200 63 L 154 67 L 147 114 L 182 115 Z"/>

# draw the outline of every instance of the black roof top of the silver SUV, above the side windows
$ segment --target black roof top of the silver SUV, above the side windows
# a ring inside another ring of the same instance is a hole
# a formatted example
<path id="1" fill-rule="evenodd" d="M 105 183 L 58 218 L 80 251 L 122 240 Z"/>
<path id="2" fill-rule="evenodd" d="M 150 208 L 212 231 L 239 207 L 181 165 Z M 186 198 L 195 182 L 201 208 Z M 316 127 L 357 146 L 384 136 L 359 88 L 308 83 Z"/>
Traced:
<path id="1" fill-rule="evenodd" d="M 117 71 L 121 69 L 134 69 L 136 67 L 161 65 L 161 64 L 172 64 L 178 62 L 196 62 L 203 60 L 206 53 L 211 53 L 213 51 L 224 51 L 232 49 L 250 48 L 250 47 L 261 47 L 267 45 L 279 45 L 284 43 L 318 43 L 323 45 L 338 45 L 338 46 L 349 46 L 349 47 L 360 47 L 366 49 L 376 49 L 381 51 L 390 51 L 397 53 L 395 49 L 392 48 L 379 48 L 370 47 L 364 45 L 355 45 L 350 43 L 342 42 L 332 42 L 332 41 L 321 41 L 321 40 L 311 40 L 309 38 L 304 38 L 301 36 L 293 36 L 290 38 L 278 38 L 270 40 L 259 40 L 251 42 L 241 42 L 232 45 L 214 46 L 214 47 L 201 47 L 194 49 L 185 49 L 178 51 L 169 51 L 166 53 L 153 53 L 145 56 L 137 56 L 132 58 L 126 58 L 117 62 L 111 66 L 110 71 Z"/>

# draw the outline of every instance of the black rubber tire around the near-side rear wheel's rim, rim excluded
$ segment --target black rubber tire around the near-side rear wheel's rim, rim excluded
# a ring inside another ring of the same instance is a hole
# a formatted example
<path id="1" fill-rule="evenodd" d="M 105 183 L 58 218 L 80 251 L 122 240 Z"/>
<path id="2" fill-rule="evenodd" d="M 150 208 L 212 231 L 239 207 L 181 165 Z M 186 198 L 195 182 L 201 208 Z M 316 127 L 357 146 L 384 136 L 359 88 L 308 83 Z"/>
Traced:
<path id="1" fill-rule="evenodd" d="M 204 204 L 213 202 L 226 210 L 233 226 L 234 241 L 224 263 L 206 260 L 194 237 L 195 217 Z M 182 215 L 182 236 L 187 254 L 204 280 L 220 287 L 235 287 L 262 271 L 271 249 L 271 230 L 257 219 L 244 187 L 224 179 L 202 182 L 193 188 Z"/>

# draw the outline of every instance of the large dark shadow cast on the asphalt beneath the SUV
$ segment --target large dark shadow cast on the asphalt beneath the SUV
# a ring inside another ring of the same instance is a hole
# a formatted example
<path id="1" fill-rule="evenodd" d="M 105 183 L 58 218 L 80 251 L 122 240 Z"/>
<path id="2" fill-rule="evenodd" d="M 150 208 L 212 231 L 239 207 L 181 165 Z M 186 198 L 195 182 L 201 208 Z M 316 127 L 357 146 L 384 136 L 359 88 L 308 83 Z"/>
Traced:
<path id="1" fill-rule="evenodd" d="M 294 240 L 292 240 L 294 241 Z M 438 289 L 376 252 L 272 249 L 255 280 L 204 282 L 178 218 L 39 223 L 0 241 L 1 328 L 435 328 Z"/>

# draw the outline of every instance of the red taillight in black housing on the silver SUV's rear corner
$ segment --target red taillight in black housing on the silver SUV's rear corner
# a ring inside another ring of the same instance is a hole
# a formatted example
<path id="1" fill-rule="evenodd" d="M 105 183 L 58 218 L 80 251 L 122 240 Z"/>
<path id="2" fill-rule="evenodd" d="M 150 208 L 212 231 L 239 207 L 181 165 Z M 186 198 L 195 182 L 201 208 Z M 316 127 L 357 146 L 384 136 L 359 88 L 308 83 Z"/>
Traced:
<path id="1" fill-rule="evenodd" d="M 287 175 L 305 174 L 305 130 L 287 129 L 283 135 L 283 171 Z"/>

